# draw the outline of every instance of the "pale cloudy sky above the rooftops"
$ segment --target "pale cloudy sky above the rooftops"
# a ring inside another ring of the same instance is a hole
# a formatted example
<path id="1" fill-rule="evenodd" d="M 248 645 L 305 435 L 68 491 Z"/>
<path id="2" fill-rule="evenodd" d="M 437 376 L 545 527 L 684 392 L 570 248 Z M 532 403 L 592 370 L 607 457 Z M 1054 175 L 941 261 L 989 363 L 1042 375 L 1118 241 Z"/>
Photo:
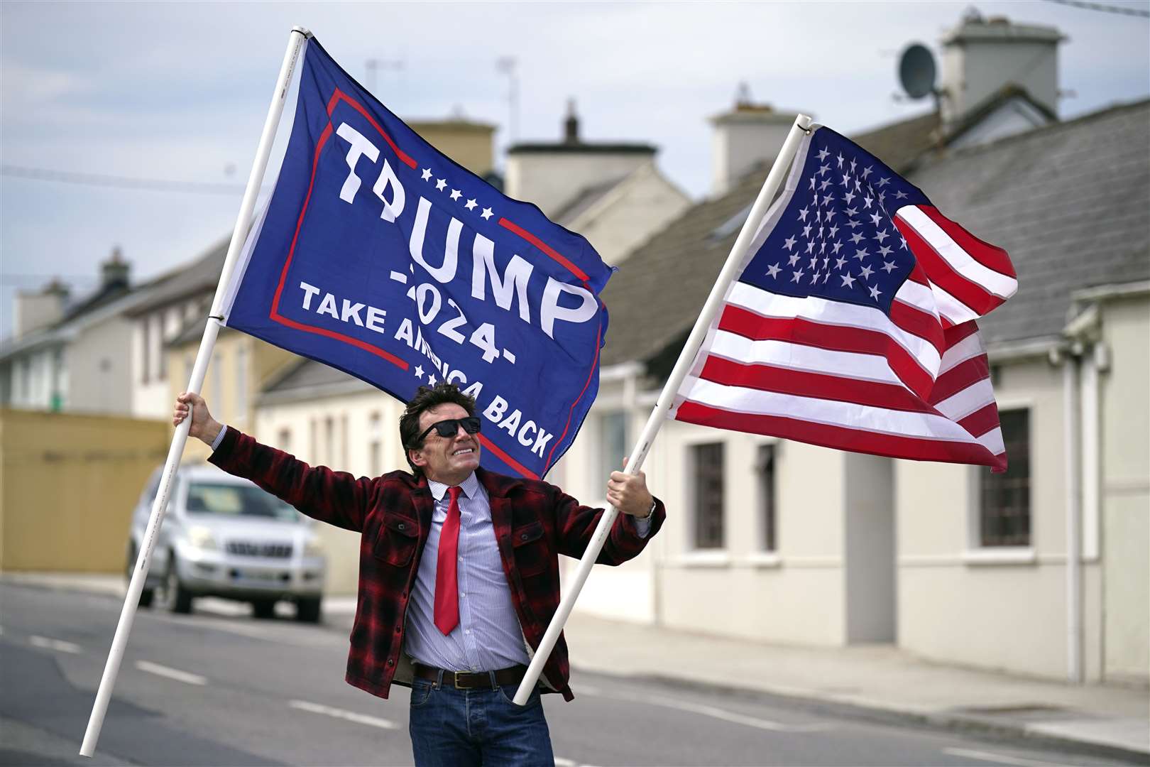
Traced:
<path id="1" fill-rule="evenodd" d="M 968 8 L 1057 26 L 1065 118 L 1150 94 L 1150 20 L 1028 2 L 0 2 L 0 338 L 15 291 L 59 276 L 74 296 L 120 247 L 141 282 L 197 258 L 236 221 L 292 25 L 312 30 L 405 118 L 461 114 L 513 139 L 560 138 L 574 99 L 586 140 L 651 143 L 695 199 L 707 118 L 752 99 L 845 133 L 930 108 L 897 99 L 898 55 Z M 1141 10 L 1147 0 L 1102 3 Z M 514 57 L 515 136 L 509 135 Z M 374 75 L 368 61 L 377 62 Z M 285 115 L 291 114 L 291 107 Z M 284 125 L 286 126 L 285 120 Z M 286 130 L 273 153 L 268 181 Z M 1143 147 L 1144 149 L 1145 147 Z M 159 179 L 124 189 L 28 172 Z M 212 193 L 184 182 L 213 184 Z"/>

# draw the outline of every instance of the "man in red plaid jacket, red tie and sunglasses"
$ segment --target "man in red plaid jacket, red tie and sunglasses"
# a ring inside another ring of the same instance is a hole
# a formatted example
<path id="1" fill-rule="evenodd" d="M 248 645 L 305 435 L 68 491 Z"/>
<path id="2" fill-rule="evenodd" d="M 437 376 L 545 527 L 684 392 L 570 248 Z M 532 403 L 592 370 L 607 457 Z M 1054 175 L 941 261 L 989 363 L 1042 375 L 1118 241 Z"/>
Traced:
<path id="1" fill-rule="evenodd" d="M 574 695 L 560 635 L 526 706 L 512 703 L 559 606 L 558 554 L 581 557 L 603 509 L 558 488 L 480 468 L 481 420 L 455 385 L 421 386 L 399 420 L 413 474 L 355 478 L 310 467 L 223 427 L 202 398 L 177 398 L 172 423 L 213 447 L 210 461 L 300 512 L 361 535 L 346 681 L 382 698 L 412 688 L 417 765 L 552 765 L 539 691 Z M 614 471 L 621 514 L 598 562 L 638 554 L 665 519 L 643 473 Z"/>

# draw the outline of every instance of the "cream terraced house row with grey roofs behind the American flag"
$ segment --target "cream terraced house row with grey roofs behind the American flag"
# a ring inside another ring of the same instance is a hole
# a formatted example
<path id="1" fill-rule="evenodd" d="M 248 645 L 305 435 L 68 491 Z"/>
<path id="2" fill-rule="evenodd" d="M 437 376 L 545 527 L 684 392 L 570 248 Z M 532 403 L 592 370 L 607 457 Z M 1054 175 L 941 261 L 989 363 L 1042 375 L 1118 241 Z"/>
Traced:
<path id="1" fill-rule="evenodd" d="M 980 25 L 996 30 L 982 38 L 1015 45 L 997 20 L 967 17 L 958 37 Z M 1056 33 L 1035 36 L 1053 51 Z M 1037 61 L 1056 67 L 1053 55 Z M 968 70 L 968 90 L 990 97 L 946 122 L 923 115 L 854 137 L 1011 253 L 1019 293 L 980 322 L 1011 469 L 668 422 L 644 467 L 667 501 L 664 534 L 630 569 L 593 573 L 580 608 L 767 642 L 885 642 L 946 662 L 1147 682 L 1150 159 L 1132 147 L 1150 144 L 1150 102 L 1067 123 L 1035 108 L 1022 130 L 1004 112 L 1035 99 L 1002 79 L 1011 71 Z M 975 75 L 999 79 L 972 83 Z M 943 82 L 957 80 L 944 72 Z M 564 459 L 573 494 L 597 492 L 645 422 L 765 172 L 690 208 L 608 283 L 603 386 Z"/>

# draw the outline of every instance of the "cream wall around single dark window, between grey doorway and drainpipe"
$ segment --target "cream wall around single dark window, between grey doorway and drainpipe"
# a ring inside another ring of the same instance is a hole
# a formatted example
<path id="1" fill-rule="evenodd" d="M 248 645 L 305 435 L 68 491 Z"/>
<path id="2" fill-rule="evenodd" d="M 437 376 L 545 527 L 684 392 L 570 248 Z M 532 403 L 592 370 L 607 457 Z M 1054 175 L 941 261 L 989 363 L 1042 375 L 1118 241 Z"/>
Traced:
<path id="1" fill-rule="evenodd" d="M 995 384 L 1000 411 L 1030 411 L 1029 547 L 980 546 L 979 477 L 990 469 L 897 461 L 900 646 L 945 662 L 1065 677 L 1061 376 L 1059 366 L 1041 356 L 1002 363 Z M 1096 583 L 1097 574 L 1087 578 Z M 1088 616 L 1097 615 L 1098 597 L 1096 585 L 1084 590 Z M 1088 673 L 1097 676 L 1096 662 Z"/>

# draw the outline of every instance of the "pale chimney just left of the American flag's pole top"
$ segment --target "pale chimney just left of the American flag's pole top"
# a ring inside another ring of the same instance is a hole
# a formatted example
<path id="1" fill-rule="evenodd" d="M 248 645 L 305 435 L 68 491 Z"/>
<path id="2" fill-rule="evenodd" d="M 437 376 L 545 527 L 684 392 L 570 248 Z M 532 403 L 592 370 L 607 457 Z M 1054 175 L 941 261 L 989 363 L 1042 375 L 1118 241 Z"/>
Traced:
<path id="1" fill-rule="evenodd" d="M 738 84 L 735 107 L 711 117 L 711 193 L 721 197 L 749 170 L 779 155 L 795 112 L 776 112 L 768 103 L 754 103 L 746 83 Z"/>

